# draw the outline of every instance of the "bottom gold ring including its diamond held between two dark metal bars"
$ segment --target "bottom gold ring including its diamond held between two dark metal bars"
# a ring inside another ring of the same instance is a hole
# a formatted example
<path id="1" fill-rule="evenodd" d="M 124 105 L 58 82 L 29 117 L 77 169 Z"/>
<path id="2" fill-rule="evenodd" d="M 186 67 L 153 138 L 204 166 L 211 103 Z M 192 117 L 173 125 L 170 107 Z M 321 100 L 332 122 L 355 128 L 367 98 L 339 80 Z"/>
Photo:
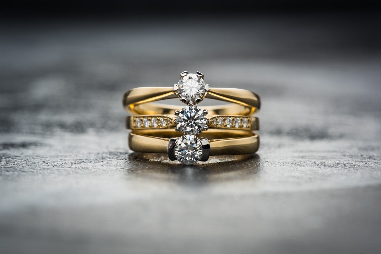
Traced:
<path id="1" fill-rule="evenodd" d="M 213 130 L 202 137 L 192 134 L 176 137 L 173 130 L 139 130 L 128 136 L 130 149 L 135 152 L 167 153 L 170 160 L 186 165 L 207 161 L 210 155 L 237 155 L 255 153 L 259 148 L 259 135 L 250 131 Z M 187 152 L 192 146 L 192 153 Z"/>

